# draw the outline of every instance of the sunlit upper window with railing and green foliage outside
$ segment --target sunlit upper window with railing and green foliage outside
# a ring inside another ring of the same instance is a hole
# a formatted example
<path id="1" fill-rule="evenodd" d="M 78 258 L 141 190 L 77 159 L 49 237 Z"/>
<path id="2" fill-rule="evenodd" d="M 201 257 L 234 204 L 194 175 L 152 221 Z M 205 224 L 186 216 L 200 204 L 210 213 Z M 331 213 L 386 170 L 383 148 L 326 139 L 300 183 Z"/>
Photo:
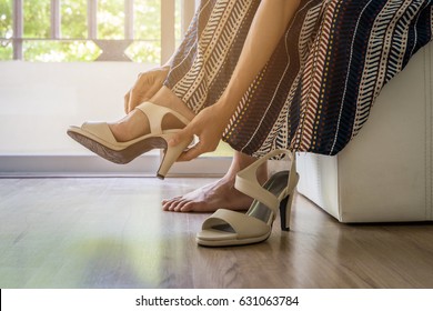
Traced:
<path id="1" fill-rule="evenodd" d="M 0 60 L 164 62 L 194 0 L 0 0 Z"/>

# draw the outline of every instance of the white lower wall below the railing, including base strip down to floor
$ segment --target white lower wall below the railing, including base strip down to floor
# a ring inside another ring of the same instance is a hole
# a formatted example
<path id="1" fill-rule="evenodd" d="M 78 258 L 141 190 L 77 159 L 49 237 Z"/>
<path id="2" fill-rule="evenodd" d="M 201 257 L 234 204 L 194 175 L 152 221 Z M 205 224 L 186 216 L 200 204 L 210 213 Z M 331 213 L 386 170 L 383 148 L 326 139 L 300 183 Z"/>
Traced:
<path id="1" fill-rule="evenodd" d="M 127 62 L 0 62 L 0 177 L 154 175 L 158 150 L 113 164 L 67 136 L 83 121 L 124 116 L 123 97 L 150 66 Z M 177 163 L 172 175 L 221 175 L 230 158 Z"/>

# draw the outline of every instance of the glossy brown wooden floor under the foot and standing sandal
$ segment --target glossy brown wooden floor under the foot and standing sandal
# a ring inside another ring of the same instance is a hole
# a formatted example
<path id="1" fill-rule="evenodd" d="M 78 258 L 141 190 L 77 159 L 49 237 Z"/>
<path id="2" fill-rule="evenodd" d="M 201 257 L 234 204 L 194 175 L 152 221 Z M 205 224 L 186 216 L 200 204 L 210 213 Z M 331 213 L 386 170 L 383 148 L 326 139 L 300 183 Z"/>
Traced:
<path id="1" fill-rule="evenodd" d="M 433 225 L 341 224 L 301 195 L 290 232 L 198 247 L 208 214 L 160 201 L 209 181 L 0 179 L 0 288 L 433 288 Z"/>

